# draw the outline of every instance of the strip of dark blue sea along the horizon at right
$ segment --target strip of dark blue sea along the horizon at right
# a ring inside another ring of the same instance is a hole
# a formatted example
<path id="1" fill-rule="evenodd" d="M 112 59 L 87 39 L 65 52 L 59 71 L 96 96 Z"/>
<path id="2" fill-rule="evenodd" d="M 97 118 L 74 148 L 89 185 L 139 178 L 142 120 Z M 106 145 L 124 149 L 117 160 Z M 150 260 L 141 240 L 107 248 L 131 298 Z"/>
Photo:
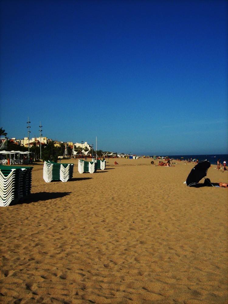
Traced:
<path id="1" fill-rule="evenodd" d="M 223 161 L 228 161 L 228 154 L 191 154 L 191 155 L 164 155 L 164 157 L 168 156 L 170 159 L 180 159 L 180 160 L 190 160 L 197 159 L 198 161 L 203 161 L 207 159 L 211 164 L 217 164 L 217 160 L 220 158 L 220 163 Z M 161 156 L 160 156 L 161 157 Z"/>

